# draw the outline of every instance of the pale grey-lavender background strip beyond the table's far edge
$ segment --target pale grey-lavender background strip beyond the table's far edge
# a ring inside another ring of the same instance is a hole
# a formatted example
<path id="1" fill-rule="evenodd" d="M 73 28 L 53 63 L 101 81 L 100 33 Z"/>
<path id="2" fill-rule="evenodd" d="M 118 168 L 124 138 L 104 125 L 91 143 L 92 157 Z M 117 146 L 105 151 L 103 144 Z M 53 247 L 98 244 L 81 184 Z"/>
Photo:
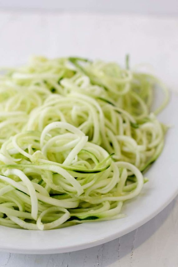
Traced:
<path id="1" fill-rule="evenodd" d="M 177 0 L 0 0 L 0 7 L 58 11 L 178 15 Z"/>

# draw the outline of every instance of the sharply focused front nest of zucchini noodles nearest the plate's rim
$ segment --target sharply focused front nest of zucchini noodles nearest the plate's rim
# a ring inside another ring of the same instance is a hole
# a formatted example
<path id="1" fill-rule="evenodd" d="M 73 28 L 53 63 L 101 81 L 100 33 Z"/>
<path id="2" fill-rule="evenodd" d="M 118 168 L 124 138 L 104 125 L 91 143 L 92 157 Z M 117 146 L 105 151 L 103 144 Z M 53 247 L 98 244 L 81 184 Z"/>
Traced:
<path id="1" fill-rule="evenodd" d="M 57 133 L 58 132 L 58 133 Z M 120 218 L 123 201 L 139 194 L 141 172 L 112 161 L 73 125 L 48 124 L 42 133 L 15 135 L 0 150 L 2 225 L 43 230 Z M 128 172 L 136 181 L 126 185 Z"/>

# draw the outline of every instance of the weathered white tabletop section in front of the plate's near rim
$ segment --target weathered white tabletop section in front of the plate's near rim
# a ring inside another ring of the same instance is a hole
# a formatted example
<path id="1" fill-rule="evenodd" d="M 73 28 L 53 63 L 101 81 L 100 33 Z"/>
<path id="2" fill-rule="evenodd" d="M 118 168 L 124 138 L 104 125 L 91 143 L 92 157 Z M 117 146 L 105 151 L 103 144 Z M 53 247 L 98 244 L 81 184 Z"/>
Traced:
<path id="1" fill-rule="evenodd" d="M 67 253 L 0 252 L 0 267 L 177 267 L 178 197 L 152 220 L 115 240 Z"/>

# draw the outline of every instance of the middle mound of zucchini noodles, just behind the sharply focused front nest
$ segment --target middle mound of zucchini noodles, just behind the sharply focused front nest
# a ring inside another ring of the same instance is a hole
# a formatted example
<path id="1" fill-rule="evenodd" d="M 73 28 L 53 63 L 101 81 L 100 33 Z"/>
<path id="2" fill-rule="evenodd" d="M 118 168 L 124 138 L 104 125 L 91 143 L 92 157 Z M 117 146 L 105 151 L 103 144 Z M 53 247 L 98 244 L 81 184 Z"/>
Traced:
<path id="1" fill-rule="evenodd" d="M 42 131 L 59 120 L 78 127 L 89 141 L 114 154 L 115 160 L 140 170 L 158 157 L 164 145 L 164 129 L 153 113 L 138 123 L 127 111 L 79 93 L 48 97 L 31 112 L 26 129 Z"/>

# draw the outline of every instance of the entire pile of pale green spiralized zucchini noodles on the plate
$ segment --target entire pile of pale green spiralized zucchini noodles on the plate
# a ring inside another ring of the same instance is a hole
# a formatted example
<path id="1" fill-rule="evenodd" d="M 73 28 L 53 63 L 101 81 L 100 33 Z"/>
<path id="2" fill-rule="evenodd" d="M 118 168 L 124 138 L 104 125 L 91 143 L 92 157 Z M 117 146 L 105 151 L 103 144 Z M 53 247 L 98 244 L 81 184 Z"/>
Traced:
<path id="1" fill-rule="evenodd" d="M 166 86 L 116 63 L 33 57 L 0 77 L 0 225 L 122 218 L 164 146 Z M 150 112 L 155 86 L 165 94 Z"/>

